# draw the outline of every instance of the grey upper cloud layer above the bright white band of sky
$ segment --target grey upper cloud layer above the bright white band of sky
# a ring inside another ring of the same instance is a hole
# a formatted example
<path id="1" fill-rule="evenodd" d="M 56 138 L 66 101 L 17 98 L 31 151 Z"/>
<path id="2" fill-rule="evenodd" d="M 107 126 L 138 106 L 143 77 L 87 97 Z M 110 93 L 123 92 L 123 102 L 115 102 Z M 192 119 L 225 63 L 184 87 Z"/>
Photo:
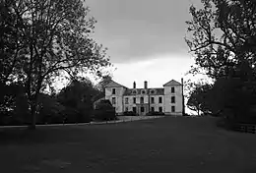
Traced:
<path id="1" fill-rule="evenodd" d="M 188 0 L 87 0 L 87 4 L 98 21 L 94 37 L 108 47 L 113 63 L 187 54 Z"/>

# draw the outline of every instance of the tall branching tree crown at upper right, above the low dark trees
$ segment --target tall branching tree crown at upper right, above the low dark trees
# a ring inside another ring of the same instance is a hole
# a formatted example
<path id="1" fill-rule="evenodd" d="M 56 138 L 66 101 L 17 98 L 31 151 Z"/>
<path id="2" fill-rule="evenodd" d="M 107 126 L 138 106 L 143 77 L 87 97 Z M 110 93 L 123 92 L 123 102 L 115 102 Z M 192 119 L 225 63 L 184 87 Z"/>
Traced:
<path id="1" fill-rule="evenodd" d="M 196 67 L 213 78 L 233 75 L 243 61 L 255 66 L 256 3 L 252 0 L 202 0 L 203 8 L 190 7 L 185 38 L 195 55 Z"/>

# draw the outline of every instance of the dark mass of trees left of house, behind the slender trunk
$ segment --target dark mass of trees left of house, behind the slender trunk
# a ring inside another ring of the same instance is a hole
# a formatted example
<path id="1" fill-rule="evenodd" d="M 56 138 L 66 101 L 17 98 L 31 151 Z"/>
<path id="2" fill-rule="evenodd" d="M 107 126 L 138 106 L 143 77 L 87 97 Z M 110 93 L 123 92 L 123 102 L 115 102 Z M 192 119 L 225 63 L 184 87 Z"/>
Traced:
<path id="1" fill-rule="evenodd" d="M 5 87 L 1 125 L 30 125 L 30 104 L 24 87 Z M 86 123 L 92 119 L 96 95 L 102 90 L 88 79 L 73 80 L 58 93 L 39 93 L 35 124 Z"/>

